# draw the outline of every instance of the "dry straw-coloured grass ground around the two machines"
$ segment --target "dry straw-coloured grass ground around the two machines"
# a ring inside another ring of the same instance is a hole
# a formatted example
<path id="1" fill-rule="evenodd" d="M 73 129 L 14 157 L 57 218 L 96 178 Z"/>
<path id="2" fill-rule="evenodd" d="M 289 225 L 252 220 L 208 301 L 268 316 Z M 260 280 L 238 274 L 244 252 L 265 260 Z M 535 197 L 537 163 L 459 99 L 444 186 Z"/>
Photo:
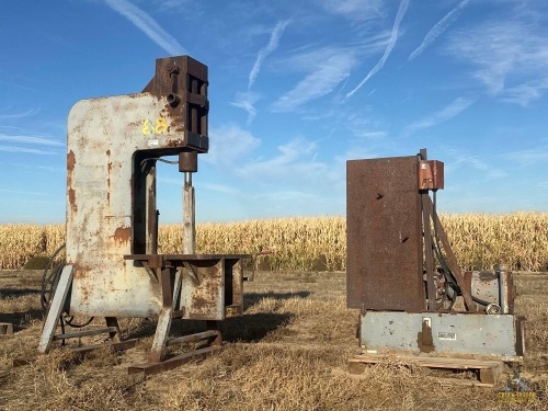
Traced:
<path id="1" fill-rule="evenodd" d="M 544 396 L 532 404 L 501 403 L 500 387 L 447 384 L 441 372 L 395 359 L 349 375 L 346 361 L 359 352 L 357 312 L 345 308 L 341 272 L 259 272 L 244 284 L 244 317 L 222 324 L 225 347 L 171 372 L 127 375 L 151 344 L 155 323 L 140 319 L 122 321 L 126 336 L 140 338 L 135 349 L 84 356 L 59 349 L 14 368 L 14 357 L 37 347 L 39 278 L 0 271 L 0 321 L 15 323 L 13 335 L 0 335 L 2 410 L 548 410 L 546 274 L 516 274 L 516 309 L 527 317 L 522 375 Z"/>

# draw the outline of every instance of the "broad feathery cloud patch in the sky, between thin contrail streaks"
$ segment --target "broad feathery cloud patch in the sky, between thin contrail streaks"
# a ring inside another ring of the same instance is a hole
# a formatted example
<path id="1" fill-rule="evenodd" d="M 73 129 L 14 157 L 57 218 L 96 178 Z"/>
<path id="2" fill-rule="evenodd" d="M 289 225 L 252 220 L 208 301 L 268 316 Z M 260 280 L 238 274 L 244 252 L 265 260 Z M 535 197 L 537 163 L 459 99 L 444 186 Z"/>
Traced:
<path id="1" fill-rule="evenodd" d="M 312 53 L 309 57 L 312 56 L 318 55 Z M 300 80 L 293 90 L 272 103 L 271 110 L 274 113 L 289 112 L 310 100 L 329 94 L 350 76 L 354 64 L 354 54 L 349 50 L 336 50 L 326 58 L 310 59 L 309 67 L 313 68 L 313 71 Z"/>

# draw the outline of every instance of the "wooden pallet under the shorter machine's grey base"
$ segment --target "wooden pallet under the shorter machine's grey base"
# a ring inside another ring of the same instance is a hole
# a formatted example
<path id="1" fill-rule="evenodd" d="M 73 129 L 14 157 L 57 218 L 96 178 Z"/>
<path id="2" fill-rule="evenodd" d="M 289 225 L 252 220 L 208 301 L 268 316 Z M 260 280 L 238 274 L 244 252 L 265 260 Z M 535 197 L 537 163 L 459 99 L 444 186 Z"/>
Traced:
<path id="1" fill-rule="evenodd" d="M 496 359 L 472 359 L 472 358 L 445 358 L 445 357 L 421 357 L 413 355 L 379 355 L 362 354 L 349 359 L 350 374 L 363 374 L 367 364 L 386 363 L 398 361 L 403 365 L 426 368 L 477 370 L 478 380 L 439 378 L 443 383 L 470 385 L 479 387 L 494 387 L 504 369 L 504 363 Z"/>

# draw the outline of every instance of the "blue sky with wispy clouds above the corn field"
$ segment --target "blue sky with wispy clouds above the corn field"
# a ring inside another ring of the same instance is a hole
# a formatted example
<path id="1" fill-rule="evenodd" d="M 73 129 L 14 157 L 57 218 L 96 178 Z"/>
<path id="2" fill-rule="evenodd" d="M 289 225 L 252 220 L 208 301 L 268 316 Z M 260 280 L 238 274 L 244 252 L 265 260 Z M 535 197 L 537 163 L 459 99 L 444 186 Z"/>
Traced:
<path id="1" fill-rule="evenodd" d="M 423 147 L 439 210 L 547 210 L 545 0 L 21 0 L 0 49 L 0 222 L 62 222 L 70 107 L 183 54 L 209 67 L 198 221 L 344 215 L 347 159 Z M 181 184 L 161 164 L 162 222 Z"/>

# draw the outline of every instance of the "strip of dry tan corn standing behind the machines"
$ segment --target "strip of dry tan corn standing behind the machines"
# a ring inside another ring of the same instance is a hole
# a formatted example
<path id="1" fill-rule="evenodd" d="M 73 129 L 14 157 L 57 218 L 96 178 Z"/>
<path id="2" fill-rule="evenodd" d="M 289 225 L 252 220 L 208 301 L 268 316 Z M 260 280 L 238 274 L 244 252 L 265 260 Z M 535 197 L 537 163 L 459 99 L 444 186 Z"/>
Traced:
<path id="1" fill-rule="evenodd" d="M 548 213 L 441 216 L 453 250 L 467 270 L 492 269 L 500 258 L 514 271 L 548 271 Z M 298 217 L 198 224 L 201 253 L 247 253 L 262 270 L 344 271 L 343 217 Z M 0 225 L 0 269 L 21 269 L 64 242 L 64 225 Z M 182 228 L 160 227 L 159 252 L 181 253 Z"/>

